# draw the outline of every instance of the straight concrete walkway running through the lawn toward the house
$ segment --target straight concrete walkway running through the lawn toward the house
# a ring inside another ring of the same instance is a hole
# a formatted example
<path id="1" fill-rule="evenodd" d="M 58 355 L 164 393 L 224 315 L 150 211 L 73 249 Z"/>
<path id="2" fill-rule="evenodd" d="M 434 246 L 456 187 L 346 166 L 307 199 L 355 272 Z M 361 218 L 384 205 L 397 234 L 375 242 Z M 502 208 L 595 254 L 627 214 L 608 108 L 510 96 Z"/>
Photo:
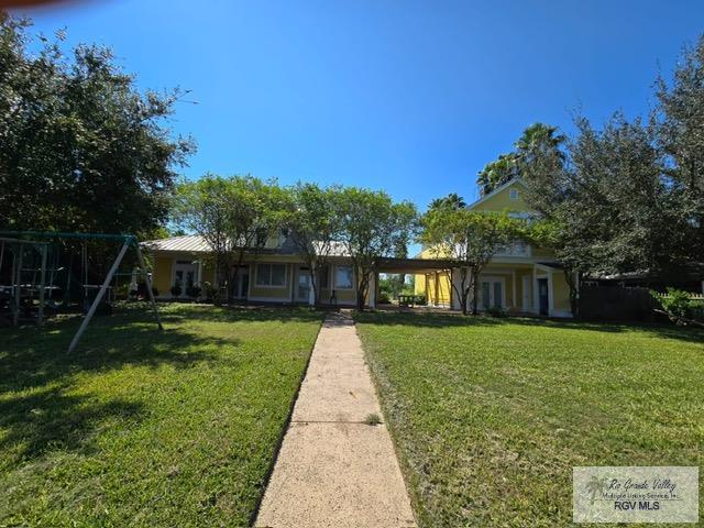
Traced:
<path id="1" fill-rule="evenodd" d="M 328 316 L 256 527 L 408 528 L 413 510 L 349 316 Z"/>

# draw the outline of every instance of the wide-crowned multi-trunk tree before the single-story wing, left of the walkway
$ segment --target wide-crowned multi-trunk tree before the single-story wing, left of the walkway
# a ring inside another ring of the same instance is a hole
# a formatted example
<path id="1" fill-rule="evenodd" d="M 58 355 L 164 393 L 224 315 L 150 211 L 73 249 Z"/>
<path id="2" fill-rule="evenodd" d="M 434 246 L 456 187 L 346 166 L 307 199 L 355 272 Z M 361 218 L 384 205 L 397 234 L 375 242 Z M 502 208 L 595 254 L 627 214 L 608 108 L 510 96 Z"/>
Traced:
<path id="1" fill-rule="evenodd" d="M 227 286 L 227 301 L 234 296 L 245 255 L 256 258 L 267 239 L 284 222 L 285 197 L 275 182 L 253 176 L 223 178 L 207 174 L 178 186 L 175 218 L 200 234 L 211 246 L 216 292 Z"/>

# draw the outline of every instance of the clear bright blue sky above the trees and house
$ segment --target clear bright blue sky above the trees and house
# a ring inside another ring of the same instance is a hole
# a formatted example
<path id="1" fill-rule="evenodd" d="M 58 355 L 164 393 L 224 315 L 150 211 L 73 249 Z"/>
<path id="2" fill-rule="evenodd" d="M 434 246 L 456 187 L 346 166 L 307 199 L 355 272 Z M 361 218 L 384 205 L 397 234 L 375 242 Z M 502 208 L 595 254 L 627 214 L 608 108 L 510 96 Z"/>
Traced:
<path id="1" fill-rule="evenodd" d="M 536 121 L 572 131 L 653 103 L 702 1 L 96 0 L 30 11 L 112 46 L 143 88 L 193 90 L 170 123 L 207 170 L 383 188 L 421 209 Z"/>

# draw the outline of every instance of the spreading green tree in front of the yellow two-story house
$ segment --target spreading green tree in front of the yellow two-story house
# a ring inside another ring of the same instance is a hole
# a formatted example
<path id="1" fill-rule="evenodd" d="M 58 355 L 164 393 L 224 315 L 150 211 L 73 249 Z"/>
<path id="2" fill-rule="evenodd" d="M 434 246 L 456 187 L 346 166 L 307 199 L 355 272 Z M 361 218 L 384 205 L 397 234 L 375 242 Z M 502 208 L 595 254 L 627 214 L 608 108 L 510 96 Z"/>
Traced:
<path id="1" fill-rule="evenodd" d="M 450 283 L 460 300 L 462 314 L 477 314 L 479 276 L 492 257 L 517 237 L 522 222 L 504 213 L 470 209 L 430 209 L 421 220 L 420 241 L 438 257 L 458 263 L 459 284 Z M 471 296 L 471 297 L 470 297 Z"/>

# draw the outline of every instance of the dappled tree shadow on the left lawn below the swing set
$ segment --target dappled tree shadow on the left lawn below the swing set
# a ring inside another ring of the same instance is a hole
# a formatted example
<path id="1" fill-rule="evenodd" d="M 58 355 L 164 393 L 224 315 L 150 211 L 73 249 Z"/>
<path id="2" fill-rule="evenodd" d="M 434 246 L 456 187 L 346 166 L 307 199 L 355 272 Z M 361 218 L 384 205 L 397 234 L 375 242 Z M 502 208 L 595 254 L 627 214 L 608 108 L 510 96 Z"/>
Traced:
<path id="1" fill-rule="evenodd" d="M 240 340 L 234 333 L 200 336 L 197 328 L 179 326 L 168 314 L 166 330 L 158 331 L 148 317 L 98 318 L 70 354 L 66 351 L 78 318 L 0 332 L 0 468 L 54 450 L 86 452 L 106 425 L 142 419 L 144 406 L 139 399 L 77 394 L 74 389 L 85 378 L 76 376 L 128 365 L 190 369 L 201 362 L 241 361 L 237 354 L 218 354 L 224 345 L 237 350 Z"/>

